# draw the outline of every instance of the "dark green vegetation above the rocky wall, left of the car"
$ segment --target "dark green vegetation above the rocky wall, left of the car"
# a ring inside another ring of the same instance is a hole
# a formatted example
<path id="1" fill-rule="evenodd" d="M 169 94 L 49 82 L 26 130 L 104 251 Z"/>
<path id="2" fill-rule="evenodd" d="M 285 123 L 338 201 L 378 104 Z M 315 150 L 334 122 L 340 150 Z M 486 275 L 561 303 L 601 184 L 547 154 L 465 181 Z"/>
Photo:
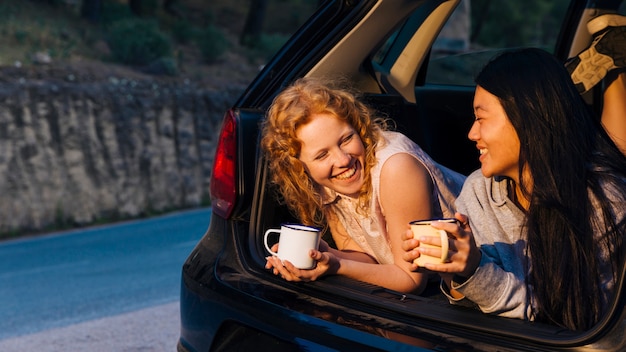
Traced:
<path id="1" fill-rule="evenodd" d="M 53 61 L 80 59 L 133 67 L 155 64 L 166 74 L 177 65 L 211 65 L 228 51 L 262 64 L 308 16 L 316 3 L 268 0 L 260 39 L 249 47 L 239 36 L 249 0 L 141 1 L 141 16 L 127 0 L 102 0 L 98 21 L 81 17 L 80 0 L 2 0 L 0 2 L 0 66 L 30 65 L 36 57 Z M 270 15 L 271 14 L 271 17 Z"/>

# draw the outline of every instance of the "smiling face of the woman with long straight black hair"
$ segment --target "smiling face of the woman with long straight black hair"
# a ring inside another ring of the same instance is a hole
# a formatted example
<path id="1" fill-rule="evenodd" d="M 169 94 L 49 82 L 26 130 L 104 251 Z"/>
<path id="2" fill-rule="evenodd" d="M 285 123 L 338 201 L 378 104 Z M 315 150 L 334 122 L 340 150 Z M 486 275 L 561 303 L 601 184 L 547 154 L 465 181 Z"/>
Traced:
<path id="1" fill-rule="evenodd" d="M 476 87 L 476 119 L 468 137 L 480 152 L 481 171 L 485 177 L 508 176 L 519 182 L 520 142 L 498 98 Z"/>

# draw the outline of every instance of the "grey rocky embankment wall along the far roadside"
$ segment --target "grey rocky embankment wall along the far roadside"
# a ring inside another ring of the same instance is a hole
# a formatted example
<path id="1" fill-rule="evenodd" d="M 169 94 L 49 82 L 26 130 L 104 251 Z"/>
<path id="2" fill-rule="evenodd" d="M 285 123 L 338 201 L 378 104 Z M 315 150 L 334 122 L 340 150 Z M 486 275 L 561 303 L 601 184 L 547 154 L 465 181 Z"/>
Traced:
<path id="1" fill-rule="evenodd" d="M 93 67 L 1 70 L 0 233 L 203 204 L 224 111 L 245 87 Z"/>

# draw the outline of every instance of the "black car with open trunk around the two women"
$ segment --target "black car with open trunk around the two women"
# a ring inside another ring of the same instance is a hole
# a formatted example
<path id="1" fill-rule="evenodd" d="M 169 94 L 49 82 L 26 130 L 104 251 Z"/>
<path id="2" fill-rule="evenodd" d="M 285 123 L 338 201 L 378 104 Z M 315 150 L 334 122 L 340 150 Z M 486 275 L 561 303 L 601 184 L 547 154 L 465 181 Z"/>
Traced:
<path id="1" fill-rule="evenodd" d="M 479 167 L 467 139 L 473 76 L 496 52 L 542 47 L 564 62 L 590 42 L 586 22 L 620 1 L 329 0 L 226 112 L 211 179 L 209 228 L 182 268 L 179 351 L 626 350 L 624 269 L 593 329 L 450 305 L 438 285 L 402 294 L 345 277 L 287 282 L 264 269 L 262 237 L 297 222 L 268 182 L 259 124 L 304 76 L 341 77 L 439 163 Z M 601 92 L 585 99 L 600 109 Z"/>

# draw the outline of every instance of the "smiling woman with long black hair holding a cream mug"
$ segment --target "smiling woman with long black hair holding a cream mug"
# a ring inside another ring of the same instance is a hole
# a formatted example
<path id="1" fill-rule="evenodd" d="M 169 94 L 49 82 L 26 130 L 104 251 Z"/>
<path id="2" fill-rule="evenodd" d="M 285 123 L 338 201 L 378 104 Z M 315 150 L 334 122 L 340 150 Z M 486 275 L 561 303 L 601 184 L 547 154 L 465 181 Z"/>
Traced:
<path id="1" fill-rule="evenodd" d="M 597 323 L 624 258 L 626 157 L 567 70 L 539 49 L 502 54 L 476 78 L 481 169 L 463 186 L 439 272 L 451 301 L 572 330 Z M 466 215 L 462 215 L 466 214 Z M 404 259 L 437 255 L 405 234 Z M 416 267 L 414 266 L 414 269 Z"/>

